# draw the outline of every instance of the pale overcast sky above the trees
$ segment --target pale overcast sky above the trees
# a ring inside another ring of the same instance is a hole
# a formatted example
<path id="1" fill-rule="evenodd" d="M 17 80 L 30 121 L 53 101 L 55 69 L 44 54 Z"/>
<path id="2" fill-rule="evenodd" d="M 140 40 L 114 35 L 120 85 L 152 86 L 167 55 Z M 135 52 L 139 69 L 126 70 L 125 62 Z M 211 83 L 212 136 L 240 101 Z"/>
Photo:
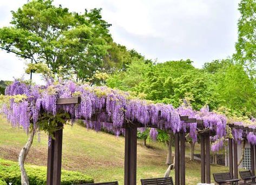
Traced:
<path id="1" fill-rule="evenodd" d="M 1 1 L 0 27 L 9 26 L 10 11 L 26 2 Z M 112 24 L 110 33 L 116 43 L 158 62 L 191 59 L 195 67 L 232 56 L 237 41 L 238 3 L 238 0 L 54 1 L 76 12 L 102 8 L 103 19 Z M 0 79 L 21 77 L 24 63 L 14 54 L 0 50 Z"/>

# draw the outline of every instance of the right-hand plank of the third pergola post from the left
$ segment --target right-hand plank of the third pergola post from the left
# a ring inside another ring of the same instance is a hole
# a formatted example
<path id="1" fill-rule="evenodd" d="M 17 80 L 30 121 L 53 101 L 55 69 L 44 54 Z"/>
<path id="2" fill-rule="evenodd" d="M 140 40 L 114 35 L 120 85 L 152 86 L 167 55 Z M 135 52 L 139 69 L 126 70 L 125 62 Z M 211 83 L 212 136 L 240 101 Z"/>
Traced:
<path id="1" fill-rule="evenodd" d="M 180 133 L 180 184 L 185 185 L 185 133 Z"/>

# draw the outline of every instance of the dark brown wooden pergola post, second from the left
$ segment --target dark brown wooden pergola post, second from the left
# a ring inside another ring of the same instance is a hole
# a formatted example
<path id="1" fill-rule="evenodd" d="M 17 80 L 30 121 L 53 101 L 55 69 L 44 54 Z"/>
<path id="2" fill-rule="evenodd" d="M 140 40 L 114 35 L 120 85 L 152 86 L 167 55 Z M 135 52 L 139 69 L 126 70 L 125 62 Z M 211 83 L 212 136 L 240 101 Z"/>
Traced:
<path id="1" fill-rule="evenodd" d="M 136 185 L 137 127 L 126 128 L 124 147 L 124 185 Z"/>

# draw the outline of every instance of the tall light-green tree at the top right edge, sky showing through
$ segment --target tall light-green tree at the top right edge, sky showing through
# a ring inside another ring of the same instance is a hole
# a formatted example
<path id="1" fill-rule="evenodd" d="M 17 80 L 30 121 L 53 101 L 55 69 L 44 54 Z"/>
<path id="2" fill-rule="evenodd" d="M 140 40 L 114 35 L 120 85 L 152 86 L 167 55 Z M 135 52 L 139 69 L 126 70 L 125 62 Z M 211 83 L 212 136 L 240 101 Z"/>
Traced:
<path id="1" fill-rule="evenodd" d="M 256 76 L 256 1 L 241 0 L 238 21 L 237 53 L 234 58 L 244 65 L 252 79 Z"/>

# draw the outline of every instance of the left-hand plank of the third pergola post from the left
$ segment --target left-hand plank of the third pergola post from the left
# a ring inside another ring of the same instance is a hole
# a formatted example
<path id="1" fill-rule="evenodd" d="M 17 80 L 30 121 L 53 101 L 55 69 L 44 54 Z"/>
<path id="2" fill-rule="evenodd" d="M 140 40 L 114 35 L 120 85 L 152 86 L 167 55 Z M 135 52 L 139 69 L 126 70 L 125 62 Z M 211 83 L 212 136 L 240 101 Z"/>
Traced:
<path id="1" fill-rule="evenodd" d="M 175 133 L 175 185 L 180 185 L 180 134 Z"/>

